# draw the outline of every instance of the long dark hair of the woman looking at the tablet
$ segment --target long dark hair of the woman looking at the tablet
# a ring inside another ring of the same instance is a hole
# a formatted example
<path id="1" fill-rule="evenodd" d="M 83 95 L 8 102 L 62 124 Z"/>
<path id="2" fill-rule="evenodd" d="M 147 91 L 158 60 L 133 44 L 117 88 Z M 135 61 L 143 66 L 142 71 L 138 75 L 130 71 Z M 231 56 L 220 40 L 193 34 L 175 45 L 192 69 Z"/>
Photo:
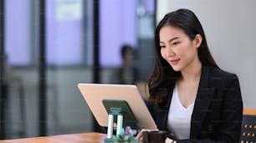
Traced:
<path id="1" fill-rule="evenodd" d="M 181 76 L 181 72 L 175 72 L 172 67 L 161 57 L 159 32 L 164 26 L 178 27 L 194 40 L 197 34 L 202 37 L 201 46 L 198 48 L 198 57 L 203 64 L 218 67 L 207 46 L 207 40 L 197 16 L 189 9 L 178 9 L 169 12 L 161 19 L 155 29 L 155 63 L 151 76 L 147 81 L 152 101 L 160 109 L 166 107 L 168 94 L 173 90 L 175 82 Z"/>

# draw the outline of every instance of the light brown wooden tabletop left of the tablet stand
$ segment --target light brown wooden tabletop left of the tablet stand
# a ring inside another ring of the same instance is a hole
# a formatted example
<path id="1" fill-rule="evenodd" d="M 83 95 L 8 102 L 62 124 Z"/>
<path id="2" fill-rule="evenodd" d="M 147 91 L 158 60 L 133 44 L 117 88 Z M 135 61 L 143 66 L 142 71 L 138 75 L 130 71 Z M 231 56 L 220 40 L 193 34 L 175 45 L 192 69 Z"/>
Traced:
<path id="1" fill-rule="evenodd" d="M 105 134 L 82 133 L 59 136 L 40 136 L 32 138 L 3 140 L 0 143 L 104 143 Z"/>

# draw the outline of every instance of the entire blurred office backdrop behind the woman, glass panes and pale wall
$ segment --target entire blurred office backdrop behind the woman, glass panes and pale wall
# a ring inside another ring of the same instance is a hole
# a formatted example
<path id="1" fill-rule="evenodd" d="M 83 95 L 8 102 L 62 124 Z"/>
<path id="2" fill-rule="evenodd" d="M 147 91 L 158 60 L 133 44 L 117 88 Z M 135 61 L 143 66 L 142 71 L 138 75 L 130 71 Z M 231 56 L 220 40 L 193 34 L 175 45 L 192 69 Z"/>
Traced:
<path id="1" fill-rule="evenodd" d="M 238 74 L 244 106 L 256 108 L 255 5 L 254 0 L 0 0 L 0 138 L 99 131 L 77 84 L 120 83 L 114 79 L 121 68 L 143 86 L 153 65 L 156 23 L 180 7 L 196 13 L 218 65 Z M 124 66 L 124 45 L 134 50 L 136 70 Z"/>

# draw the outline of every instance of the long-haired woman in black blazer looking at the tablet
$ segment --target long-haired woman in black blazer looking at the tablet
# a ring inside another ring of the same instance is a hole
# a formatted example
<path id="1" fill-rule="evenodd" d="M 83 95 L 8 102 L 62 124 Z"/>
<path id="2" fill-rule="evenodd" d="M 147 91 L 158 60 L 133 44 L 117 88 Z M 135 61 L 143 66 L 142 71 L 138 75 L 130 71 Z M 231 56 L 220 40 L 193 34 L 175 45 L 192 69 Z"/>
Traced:
<path id="1" fill-rule="evenodd" d="M 166 142 L 238 142 L 243 116 L 238 76 L 214 62 L 192 11 L 163 17 L 155 31 L 155 52 L 148 107 L 158 129 L 176 138 Z"/>

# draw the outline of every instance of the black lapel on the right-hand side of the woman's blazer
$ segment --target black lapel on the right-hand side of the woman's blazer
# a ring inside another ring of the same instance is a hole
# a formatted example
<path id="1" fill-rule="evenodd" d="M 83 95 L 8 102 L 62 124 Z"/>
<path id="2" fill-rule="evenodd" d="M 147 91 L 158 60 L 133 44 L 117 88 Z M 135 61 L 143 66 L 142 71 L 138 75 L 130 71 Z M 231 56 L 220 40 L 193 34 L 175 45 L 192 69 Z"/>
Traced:
<path id="1" fill-rule="evenodd" d="M 191 139 L 196 139 L 199 135 L 203 119 L 207 115 L 208 107 L 213 99 L 215 88 L 208 87 L 209 67 L 202 67 L 202 75 L 197 91 L 197 97 L 192 112 Z"/>

